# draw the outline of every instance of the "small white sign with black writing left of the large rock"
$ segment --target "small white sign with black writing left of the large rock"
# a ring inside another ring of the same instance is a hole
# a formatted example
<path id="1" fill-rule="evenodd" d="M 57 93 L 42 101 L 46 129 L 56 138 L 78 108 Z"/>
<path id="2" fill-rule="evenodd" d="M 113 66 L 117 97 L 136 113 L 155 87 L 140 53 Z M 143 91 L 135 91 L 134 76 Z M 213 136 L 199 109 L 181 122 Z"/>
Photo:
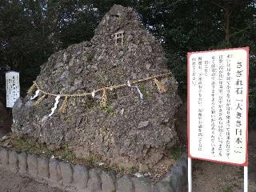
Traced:
<path id="1" fill-rule="evenodd" d="M 14 102 L 20 97 L 19 73 L 10 71 L 6 73 L 6 107 L 12 108 Z"/>

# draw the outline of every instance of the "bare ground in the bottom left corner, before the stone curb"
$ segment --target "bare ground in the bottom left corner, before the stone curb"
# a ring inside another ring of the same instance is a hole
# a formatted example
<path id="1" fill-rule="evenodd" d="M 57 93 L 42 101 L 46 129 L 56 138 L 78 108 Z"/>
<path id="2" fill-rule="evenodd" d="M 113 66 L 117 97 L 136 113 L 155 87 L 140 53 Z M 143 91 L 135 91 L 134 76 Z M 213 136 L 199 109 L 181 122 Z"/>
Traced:
<path id="1" fill-rule="evenodd" d="M 13 174 L 6 170 L 0 170 L 0 191 L 1 192 L 62 192 L 35 182 L 31 178 L 22 177 L 19 174 Z"/>

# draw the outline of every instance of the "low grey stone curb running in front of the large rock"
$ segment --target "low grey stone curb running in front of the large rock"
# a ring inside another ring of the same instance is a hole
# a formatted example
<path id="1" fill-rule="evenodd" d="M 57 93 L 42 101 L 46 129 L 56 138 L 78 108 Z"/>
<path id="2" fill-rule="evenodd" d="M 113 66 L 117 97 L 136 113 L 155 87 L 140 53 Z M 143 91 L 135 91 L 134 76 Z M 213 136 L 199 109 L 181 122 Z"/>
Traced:
<path id="1" fill-rule="evenodd" d="M 2 146 L 0 166 L 72 192 L 179 192 L 187 182 L 186 154 L 182 155 L 161 181 L 155 183 L 145 177 L 137 178 L 128 174 L 117 177 L 111 171 L 89 169 L 37 154 L 18 153 Z"/>

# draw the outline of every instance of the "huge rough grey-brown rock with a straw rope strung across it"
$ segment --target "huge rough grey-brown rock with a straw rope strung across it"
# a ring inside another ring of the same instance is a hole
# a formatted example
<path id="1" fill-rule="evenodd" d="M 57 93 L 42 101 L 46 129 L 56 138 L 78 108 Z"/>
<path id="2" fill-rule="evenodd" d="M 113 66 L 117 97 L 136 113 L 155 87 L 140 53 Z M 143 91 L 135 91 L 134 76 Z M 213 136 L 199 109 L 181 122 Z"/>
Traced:
<path id="1" fill-rule="evenodd" d="M 120 31 L 123 41 L 116 42 L 115 33 Z M 49 93 L 90 93 L 168 72 L 162 46 L 142 26 L 138 15 L 131 8 L 114 6 L 90 42 L 51 55 L 36 82 Z M 99 154 L 121 166 L 153 166 L 178 140 L 174 114 L 181 102 L 172 74 L 158 80 L 167 88 L 166 93 L 152 80 L 140 82 L 136 86 L 143 98 L 136 88 L 126 86 L 106 91 L 105 108 L 99 104 L 102 92 L 98 92 L 95 98 L 68 98 L 67 113 L 57 109 L 51 117 L 48 114 L 55 97 L 48 95 L 34 106 L 32 94 L 28 94 L 15 103 L 12 130 L 51 148 L 70 143 L 75 154 L 83 157 Z M 58 108 L 63 100 L 60 98 Z"/>

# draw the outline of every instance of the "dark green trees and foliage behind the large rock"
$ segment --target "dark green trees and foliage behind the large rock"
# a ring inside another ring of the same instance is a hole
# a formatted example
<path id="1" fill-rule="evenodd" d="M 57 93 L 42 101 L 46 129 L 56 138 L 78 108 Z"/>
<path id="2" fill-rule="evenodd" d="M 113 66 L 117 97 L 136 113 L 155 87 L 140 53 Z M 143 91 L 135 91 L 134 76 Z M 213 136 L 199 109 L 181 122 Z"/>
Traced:
<path id="1" fill-rule="evenodd" d="M 170 70 L 186 100 L 186 53 L 250 46 L 250 115 L 255 117 L 255 0 L 2 0 L 0 1 L 0 94 L 4 73 L 21 73 L 22 90 L 50 54 L 88 41 L 114 4 L 134 7 L 166 50 Z"/>

